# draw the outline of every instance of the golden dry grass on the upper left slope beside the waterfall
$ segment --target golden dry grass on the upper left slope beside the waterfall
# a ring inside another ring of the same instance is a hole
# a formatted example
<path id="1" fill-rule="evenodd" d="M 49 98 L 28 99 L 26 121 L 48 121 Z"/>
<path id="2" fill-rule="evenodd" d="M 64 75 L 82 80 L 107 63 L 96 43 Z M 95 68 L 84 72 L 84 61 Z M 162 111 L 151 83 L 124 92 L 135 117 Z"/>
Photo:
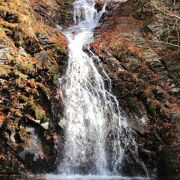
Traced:
<path id="1" fill-rule="evenodd" d="M 51 9 L 51 11 L 57 11 L 58 7 L 53 0 L 0 0 L 0 12 L 11 13 L 18 17 L 18 22 L 11 23 L 5 21 L 0 17 L 0 39 L 7 42 L 8 46 L 16 51 L 16 47 L 11 38 L 6 33 L 11 28 L 17 28 L 20 32 L 20 39 L 23 38 L 34 39 L 38 42 L 37 34 L 44 34 L 51 39 L 54 44 L 65 47 L 67 45 L 65 37 L 56 30 L 44 22 L 41 16 L 33 10 L 33 6 L 43 5 Z M 22 44 L 23 42 L 20 42 Z"/>

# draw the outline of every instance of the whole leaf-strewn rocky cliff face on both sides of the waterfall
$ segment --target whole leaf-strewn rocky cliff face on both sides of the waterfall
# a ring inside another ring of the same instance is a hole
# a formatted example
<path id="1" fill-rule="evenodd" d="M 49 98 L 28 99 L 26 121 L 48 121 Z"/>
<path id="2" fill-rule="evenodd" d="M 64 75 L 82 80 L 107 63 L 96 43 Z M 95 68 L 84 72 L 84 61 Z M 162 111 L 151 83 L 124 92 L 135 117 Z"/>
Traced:
<path id="1" fill-rule="evenodd" d="M 159 9 L 154 1 L 108 1 L 91 44 L 136 132 L 141 159 L 162 179 L 179 174 L 179 6 L 168 2 Z M 55 23 L 71 23 L 71 3 L 0 0 L 0 174 L 56 169 L 67 40 Z M 176 8 L 169 14 L 170 6 Z"/>

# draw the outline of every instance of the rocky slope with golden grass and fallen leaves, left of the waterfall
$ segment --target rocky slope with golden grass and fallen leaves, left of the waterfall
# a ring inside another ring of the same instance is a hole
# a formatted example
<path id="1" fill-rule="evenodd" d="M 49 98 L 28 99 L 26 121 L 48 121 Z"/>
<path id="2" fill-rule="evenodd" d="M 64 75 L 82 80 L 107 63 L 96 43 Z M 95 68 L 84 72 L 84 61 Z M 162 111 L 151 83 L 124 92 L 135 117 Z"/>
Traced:
<path id="1" fill-rule="evenodd" d="M 0 174 L 56 168 L 69 3 L 0 0 Z"/>

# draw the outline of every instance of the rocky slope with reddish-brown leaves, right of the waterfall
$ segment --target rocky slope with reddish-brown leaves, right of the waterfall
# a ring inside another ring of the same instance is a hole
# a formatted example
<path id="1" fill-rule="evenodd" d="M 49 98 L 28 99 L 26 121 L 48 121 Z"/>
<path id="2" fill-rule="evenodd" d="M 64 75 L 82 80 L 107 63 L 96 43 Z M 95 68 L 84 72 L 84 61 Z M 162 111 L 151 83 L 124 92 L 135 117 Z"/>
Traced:
<path id="1" fill-rule="evenodd" d="M 179 8 L 170 1 L 111 1 L 91 44 L 137 132 L 140 157 L 162 179 L 179 174 Z"/>

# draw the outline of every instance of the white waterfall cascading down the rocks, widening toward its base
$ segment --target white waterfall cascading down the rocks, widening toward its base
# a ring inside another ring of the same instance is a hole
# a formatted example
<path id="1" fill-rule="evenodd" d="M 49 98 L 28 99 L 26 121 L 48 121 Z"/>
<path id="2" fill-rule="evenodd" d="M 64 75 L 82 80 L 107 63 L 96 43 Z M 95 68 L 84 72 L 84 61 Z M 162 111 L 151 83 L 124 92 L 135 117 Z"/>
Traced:
<path id="1" fill-rule="evenodd" d="M 68 68 L 60 79 L 65 147 L 59 173 L 121 175 L 127 148 L 144 165 L 138 160 L 135 141 L 111 94 L 111 80 L 100 59 L 90 50 L 83 51 L 93 41 L 93 30 L 105 5 L 99 13 L 94 0 L 76 0 L 73 5 L 75 25 L 65 31 L 69 40 Z"/>

